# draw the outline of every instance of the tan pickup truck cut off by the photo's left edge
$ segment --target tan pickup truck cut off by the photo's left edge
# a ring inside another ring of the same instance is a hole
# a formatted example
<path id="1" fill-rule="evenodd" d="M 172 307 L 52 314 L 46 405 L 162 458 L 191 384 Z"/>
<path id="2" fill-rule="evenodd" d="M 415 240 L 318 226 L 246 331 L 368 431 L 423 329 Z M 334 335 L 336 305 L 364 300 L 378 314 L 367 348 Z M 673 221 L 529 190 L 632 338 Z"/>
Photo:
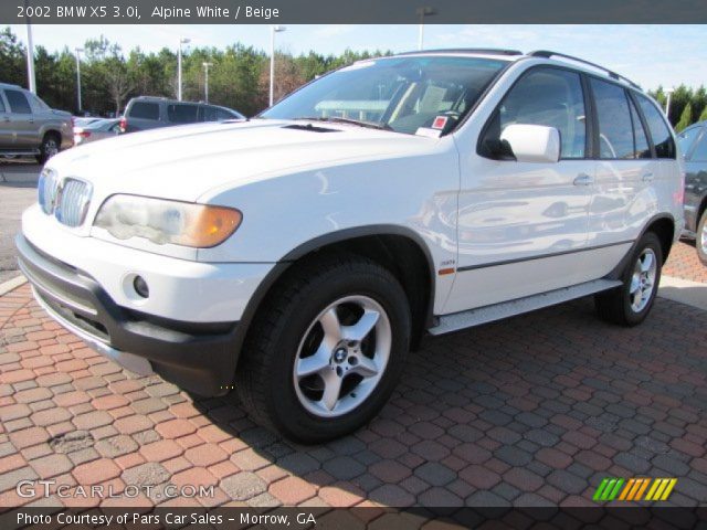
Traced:
<path id="1" fill-rule="evenodd" d="M 0 155 L 34 156 L 43 163 L 73 142 L 70 113 L 51 108 L 18 85 L 0 83 Z"/>

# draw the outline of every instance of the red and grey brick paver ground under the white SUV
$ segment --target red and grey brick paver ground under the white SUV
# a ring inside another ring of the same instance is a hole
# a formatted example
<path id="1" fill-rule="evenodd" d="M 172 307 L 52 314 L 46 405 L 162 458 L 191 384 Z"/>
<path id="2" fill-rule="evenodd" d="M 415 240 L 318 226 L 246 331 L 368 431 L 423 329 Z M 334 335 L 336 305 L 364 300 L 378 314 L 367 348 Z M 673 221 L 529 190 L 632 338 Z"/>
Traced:
<path id="1" fill-rule="evenodd" d="M 704 505 L 705 343 L 707 312 L 665 299 L 632 329 L 583 299 L 425 339 L 380 417 L 302 447 L 231 398 L 192 401 L 129 375 L 51 321 L 25 285 L 0 298 L 0 506 L 583 506 L 605 476 L 677 477 L 669 502 Z M 152 488 L 18 497 L 32 478 Z M 169 485 L 215 495 L 168 499 Z"/>

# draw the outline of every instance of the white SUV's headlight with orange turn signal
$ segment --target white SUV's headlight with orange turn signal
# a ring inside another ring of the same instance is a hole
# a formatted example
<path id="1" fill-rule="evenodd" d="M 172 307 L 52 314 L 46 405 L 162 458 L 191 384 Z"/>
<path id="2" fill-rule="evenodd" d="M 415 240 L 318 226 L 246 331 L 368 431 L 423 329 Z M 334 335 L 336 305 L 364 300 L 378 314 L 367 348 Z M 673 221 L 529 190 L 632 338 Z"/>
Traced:
<path id="1" fill-rule="evenodd" d="M 232 208 L 113 195 L 101 206 L 94 225 L 118 240 L 145 237 L 158 245 L 208 248 L 229 239 L 242 219 Z"/>

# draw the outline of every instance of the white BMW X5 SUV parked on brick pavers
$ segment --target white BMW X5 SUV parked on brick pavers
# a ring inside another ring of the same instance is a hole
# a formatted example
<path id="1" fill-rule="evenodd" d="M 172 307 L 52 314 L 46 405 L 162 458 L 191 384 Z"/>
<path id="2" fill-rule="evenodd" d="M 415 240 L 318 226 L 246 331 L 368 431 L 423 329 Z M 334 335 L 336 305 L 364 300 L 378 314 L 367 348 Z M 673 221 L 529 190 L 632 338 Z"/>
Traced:
<path id="1" fill-rule="evenodd" d="M 441 335 L 594 295 L 641 322 L 683 226 L 656 106 L 552 52 L 358 62 L 247 123 L 63 152 L 20 265 L 62 325 L 137 373 L 235 386 L 291 438 L 351 432 Z"/>

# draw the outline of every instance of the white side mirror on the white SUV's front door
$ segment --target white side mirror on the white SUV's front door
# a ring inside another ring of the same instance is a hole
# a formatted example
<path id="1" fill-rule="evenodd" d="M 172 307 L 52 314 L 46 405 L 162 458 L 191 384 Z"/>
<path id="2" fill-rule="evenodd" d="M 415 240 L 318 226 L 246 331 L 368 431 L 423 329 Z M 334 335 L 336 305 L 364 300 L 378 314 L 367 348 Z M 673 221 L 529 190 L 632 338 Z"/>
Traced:
<path id="1" fill-rule="evenodd" d="M 509 125 L 500 134 L 518 162 L 557 162 L 560 159 L 560 131 L 544 125 Z"/>

